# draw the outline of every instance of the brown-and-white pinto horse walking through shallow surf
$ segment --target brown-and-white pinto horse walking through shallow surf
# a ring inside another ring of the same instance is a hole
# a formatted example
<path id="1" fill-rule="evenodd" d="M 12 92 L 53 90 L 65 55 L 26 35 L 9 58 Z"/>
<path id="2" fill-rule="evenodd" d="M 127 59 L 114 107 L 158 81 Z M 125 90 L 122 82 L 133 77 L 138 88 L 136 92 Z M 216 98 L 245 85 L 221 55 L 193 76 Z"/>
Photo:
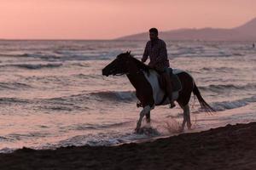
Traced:
<path id="1" fill-rule="evenodd" d="M 172 93 L 172 99 L 176 100 L 177 104 L 183 109 L 183 123 L 180 131 L 184 130 L 186 123 L 188 129 L 191 129 L 189 99 L 192 92 L 204 111 L 213 112 L 215 110 L 202 98 L 199 89 L 195 85 L 194 78 L 188 72 L 173 69 L 172 73 L 177 75 L 182 87 L 180 91 L 176 92 L 176 95 L 175 92 Z M 146 116 L 146 121 L 150 122 L 150 111 L 154 109 L 154 106 L 170 103 L 169 99 L 166 98 L 165 90 L 160 86 L 159 73 L 136 59 L 131 55 L 131 52 L 119 54 L 116 59 L 102 69 L 102 75 L 106 77 L 109 75 L 126 75 L 136 89 L 137 99 L 143 106 L 143 111 L 140 112 L 135 128 L 137 133 L 140 131 L 143 116 Z"/>

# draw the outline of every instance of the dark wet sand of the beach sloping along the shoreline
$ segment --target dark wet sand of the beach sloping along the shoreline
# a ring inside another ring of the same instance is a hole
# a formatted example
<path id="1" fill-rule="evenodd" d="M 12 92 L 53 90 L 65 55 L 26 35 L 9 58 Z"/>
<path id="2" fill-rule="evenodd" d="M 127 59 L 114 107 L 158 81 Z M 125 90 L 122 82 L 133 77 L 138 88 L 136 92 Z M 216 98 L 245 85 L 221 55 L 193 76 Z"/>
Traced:
<path id="1" fill-rule="evenodd" d="M 0 169 L 256 169 L 256 122 L 112 147 L 23 148 Z"/>

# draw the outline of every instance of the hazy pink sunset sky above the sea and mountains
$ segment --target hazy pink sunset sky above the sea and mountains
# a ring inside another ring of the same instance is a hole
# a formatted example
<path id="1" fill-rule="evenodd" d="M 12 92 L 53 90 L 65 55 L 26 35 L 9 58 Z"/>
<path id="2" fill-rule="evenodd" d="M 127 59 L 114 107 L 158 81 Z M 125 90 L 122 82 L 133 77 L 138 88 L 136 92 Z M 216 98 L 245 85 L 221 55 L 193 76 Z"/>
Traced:
<path id="1" fill-rule="evenodd" d="M 0 0 L 0 16 L 4 39 L 113 39 L 240 26 L 256 17 L 256 0 Z"/>

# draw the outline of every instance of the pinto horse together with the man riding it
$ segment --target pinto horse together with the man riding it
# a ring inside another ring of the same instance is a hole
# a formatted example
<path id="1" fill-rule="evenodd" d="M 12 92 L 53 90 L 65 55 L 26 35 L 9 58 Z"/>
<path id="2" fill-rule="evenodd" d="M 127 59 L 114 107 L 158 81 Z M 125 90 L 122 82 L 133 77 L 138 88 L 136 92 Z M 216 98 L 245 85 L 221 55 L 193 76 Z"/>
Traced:
<path id="1" fill-rule="evenodd" d="M 150 122 L 150 111 L 154 109 L 154 106 L 168 105 L 171 103 L 170 100 L 172 100 L 172 106 L 175 106 L 173 100 L 176 100 L 177 104 L 183 109 L 183 123 L 180 130 L 183 131 L 185 124 L 190 129 L 189 99 L 192 93 L 195 94 L 204 111 L 212 112 L 215 110 L 202 98 L 199 89 L 195 85 L 194 78 L 186 71 L 173 70 L 181 88 L 176 89 L 172 98 L 172 83 L 168 73 L 169 61 L 167 59 L 166 43 L 158 38 L 158 31 L 155 28 L 150 29 L 149 35 L 150 41 L 147 43 L 142 60 L 145 62 L 149 56 L 149 66 L 154 67 L 156 71 L 134 58 L 130 52 L 126 52 L 119 54 L 116 59 L 105 66 L 102 69 L 102 75 L 106 77 L 109 75 L 126 75 L 136 89 L 137 99 L 141 102 L 141 105 L 138 105 L 143 107 L 135 128 L 137 133 L 141 130 L 143 117 L 146 116 L 146 121 Z M 160 86 L 158 81 L 160 75 L 157 71 L 160 71 L 160 74 L 166 79 L 166 91 L 170 99 L 166 99 L 166 92 Z"/>

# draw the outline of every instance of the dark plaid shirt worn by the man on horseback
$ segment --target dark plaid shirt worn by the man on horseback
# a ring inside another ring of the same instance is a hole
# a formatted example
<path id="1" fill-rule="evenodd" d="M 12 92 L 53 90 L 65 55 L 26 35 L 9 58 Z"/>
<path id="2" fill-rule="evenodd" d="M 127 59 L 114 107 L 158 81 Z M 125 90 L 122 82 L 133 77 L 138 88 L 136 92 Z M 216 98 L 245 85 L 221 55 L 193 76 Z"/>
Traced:
<path id="1" fill-rule="evenodd" d="M 167 57 L 166 42 L 161 39 L 155 40 L 155 42 L 148 41 L 143 54 L 143 62 L 150 59 L 148 65 L 153 66 L 157 70 L 164 70 L 166 67 L 170 67 L 169 59 Z"/>

